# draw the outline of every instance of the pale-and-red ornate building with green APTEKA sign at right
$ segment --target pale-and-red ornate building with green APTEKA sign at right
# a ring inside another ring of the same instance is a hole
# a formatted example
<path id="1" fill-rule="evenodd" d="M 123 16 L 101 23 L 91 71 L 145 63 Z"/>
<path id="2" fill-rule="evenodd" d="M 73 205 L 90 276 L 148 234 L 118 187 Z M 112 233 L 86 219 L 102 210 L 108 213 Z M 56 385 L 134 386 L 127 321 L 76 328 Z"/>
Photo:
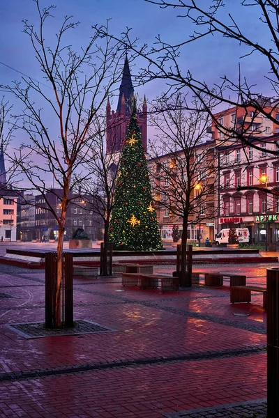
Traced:
<path id="1" fill-rule="evenodd" d="M 220 167 L 216 233 L 231 226 L 247 227 L 250 242 L 266 243 L 276 249 L 279 248 L 279 157 L 267 151 L 279 150 L 279 135 L 253 137 L 249 141 L 260 150 L 241 143 L 216 148 Z"/>

